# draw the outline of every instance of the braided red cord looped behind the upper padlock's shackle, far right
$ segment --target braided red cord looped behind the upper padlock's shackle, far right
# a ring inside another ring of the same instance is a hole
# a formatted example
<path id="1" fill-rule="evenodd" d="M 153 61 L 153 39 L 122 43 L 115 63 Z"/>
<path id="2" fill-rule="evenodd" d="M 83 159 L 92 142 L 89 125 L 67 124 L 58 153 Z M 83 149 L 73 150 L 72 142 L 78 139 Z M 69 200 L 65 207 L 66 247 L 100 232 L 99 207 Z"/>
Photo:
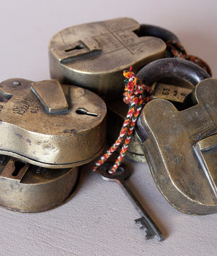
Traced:
<path id="1" fill-rule="evenodd" d="M 175 56 L 176 58 L 192 61 L 198 66 L 202 67 L 202 69 L 205 69 L 205 71 L 208 72 L 210 77 L 212 76 L 212 72 L 209 65 L 199 57 L 188 55 L 183 45 L 181 45 L 181 43 L 175 40 L 168 41 L 167 48 L 170 49 L 171 53 L 173 53 L 173 56 Z"/>

